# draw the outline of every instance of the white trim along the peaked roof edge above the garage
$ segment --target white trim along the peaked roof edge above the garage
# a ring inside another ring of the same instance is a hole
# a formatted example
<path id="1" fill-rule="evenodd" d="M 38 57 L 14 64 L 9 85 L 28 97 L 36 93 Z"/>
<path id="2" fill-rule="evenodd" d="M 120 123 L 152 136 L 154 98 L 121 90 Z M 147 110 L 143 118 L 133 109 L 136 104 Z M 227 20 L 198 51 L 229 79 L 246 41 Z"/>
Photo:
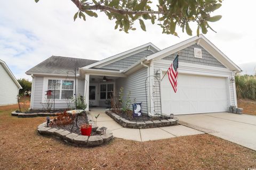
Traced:
<path id="1" fill-rule="evenodd" d="M 181 43 L 175 44 L 171 47 L 165 48 L 157 53 L 147 56 L 146 59 L 148 61 L 160 60 L 170 54 L 176 53 L 179 50 L 189 47 L 196 43 L 198 43 L 203 48 L 205 48 L 205 50 L 207 50 L 207 52 L 209 52 L 211 55 L 213 55 L 220 63 L 225 65 L 231 71 L 235 71 L 236 73 L 242 71 L 234 62 L 232 62 L 225 54 L 223 54 L 217 47 L 215 47 L 203 35 L 199 35 L 199 37 L 195 36 L 193 38 L 182 41 Z"/>

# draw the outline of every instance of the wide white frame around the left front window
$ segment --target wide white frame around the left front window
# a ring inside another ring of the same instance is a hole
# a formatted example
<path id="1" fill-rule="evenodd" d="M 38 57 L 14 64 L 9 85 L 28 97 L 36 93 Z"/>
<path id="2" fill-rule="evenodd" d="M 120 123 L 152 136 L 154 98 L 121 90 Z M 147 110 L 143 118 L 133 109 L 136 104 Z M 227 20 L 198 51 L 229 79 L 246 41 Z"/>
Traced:
<path id="1" fill-rule="evenodd" d="M 55 103 L 66 103 L 67 102 L 66 99 L 61 99 L 62 81 L 65 81 L 66 78 L 60 78 L 60 77 L 44 77 L 42 103 L 46 103 L 46 101 L 47 101 L 47 95 L 45 95 L 45 94 L 48 89 L 48 80 L 60 80 L 61 81 L 61 83 L 60 83 L 60 99 L 55 99 Z M 68 78 L 67 81 L 69 81 L 69 80 L 74 81 L 73 94 L 75 94 L 75 79 Z M 77 91 L 77 82 L 78 81 L 76 81 L 76 91 Z M 71 99 L 69 99 L 69 101 L 71 101 Z"/>

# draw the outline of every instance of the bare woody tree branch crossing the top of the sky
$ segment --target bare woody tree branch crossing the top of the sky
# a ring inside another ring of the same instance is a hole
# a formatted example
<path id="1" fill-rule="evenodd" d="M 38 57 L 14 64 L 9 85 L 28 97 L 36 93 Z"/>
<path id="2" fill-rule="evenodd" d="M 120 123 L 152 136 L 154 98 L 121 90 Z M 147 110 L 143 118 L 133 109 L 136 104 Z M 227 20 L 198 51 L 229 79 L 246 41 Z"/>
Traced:
<path id="1" fill-rule="evenodd" d="M 101 10 L 101 11 L 109 11 L 114 12 L 118 14 L 132 14 L 132 15 L 142 15 L 142 14 L 164 14 L 164 11 L 132 11 L 132 10 L 123 10 L 123 9 L 117 9 L 111 6 L 106 5 L 87 5 L 86 8 L 84 8 L 84 5 L 79 0 L 71 0 L 80 11 L 86 11 L 86 10 Z"/>

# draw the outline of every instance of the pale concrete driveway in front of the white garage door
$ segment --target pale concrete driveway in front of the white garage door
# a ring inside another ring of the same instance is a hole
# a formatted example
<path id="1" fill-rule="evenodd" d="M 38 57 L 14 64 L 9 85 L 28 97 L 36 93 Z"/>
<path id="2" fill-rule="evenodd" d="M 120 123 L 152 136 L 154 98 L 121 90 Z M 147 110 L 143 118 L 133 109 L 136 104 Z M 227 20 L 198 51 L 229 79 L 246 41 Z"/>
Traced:
<path id="1" fill-rule="evenodd" d="M 256 150 L 256 116 L 223 112 L 177 117 L 180 124 Z"/>

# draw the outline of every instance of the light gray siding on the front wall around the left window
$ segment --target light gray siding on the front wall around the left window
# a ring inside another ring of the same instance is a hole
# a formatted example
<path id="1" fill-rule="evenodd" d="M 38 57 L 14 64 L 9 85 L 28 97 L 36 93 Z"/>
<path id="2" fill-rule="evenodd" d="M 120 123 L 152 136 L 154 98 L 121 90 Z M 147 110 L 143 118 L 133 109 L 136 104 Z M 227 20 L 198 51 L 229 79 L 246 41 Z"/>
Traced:
<path id="1" fill-rule="evenodd" d="M 53 78 L 54 79 L 54 78 Z M 63 78 L 65 80 L 66 78 Z M 42 102 L 43 95 L 45 95 L 44 89 L 44 77 L 35 76 L 35 88 L 34 88 L 34 97 L 33 97 L 33 109 L 44 109 L 46 104 Z M 77 79 L 77 96 L 84 96 L 84 80 Z M 71 103 L 72 106 L 74 104 Z M 66 109 L 67 102 L 63 100 L 62 102 L 55 101 L 55 109 Z M 53 109 L 53 106 L 52 106 Z"/>

